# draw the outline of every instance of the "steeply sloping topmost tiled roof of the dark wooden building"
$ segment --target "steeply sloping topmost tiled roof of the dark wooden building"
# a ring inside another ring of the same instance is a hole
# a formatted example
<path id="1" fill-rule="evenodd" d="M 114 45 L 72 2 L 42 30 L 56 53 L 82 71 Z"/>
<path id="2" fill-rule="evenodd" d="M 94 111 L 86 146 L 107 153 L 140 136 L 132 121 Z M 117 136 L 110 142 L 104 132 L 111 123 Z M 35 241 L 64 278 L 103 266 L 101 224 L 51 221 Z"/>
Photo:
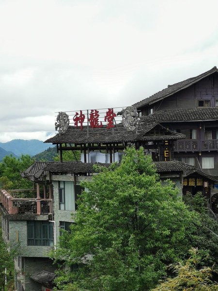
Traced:
<path id="1" fill-rule="evenodd" d="M 158 100 L 161 100 L 165 97 L 171 96 L 172 94 L 195 84 L 196 82 L 202 80 L 203 78 L 205 78 L 205 77 L 207 77 L 215 72 L 218 72 L 218 69 L 216 66 L 213 67 L 211 70 L 206 71 L 205 73 L 202 73 L 201 75 L 198 75 L 198 76 L 193 77 L 193 78 L 189 78 L 185 81 L 181 81 L 181 82 L 175 83 L 173 85 L 169 85 L 168 88 L 165 88 L 162 91 L 159 91 L 156 94 L 133 104 L 133 107 L 136 107 L 137 109 L 139 109 L 145 105 L 152 104 L 152 103 L 154 103 Z"/>

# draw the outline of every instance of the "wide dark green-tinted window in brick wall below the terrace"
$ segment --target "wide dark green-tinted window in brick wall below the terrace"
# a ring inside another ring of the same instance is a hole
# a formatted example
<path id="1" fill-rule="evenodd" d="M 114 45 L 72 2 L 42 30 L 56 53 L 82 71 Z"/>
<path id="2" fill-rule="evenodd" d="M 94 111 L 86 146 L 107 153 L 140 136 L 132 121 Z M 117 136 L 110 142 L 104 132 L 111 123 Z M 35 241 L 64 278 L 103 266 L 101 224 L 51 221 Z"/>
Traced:
<path id="1" fill-rule="evenodd" d="M 53 245 L 53 226 L 48 221 L 27 221 L 27 245 Z"/>

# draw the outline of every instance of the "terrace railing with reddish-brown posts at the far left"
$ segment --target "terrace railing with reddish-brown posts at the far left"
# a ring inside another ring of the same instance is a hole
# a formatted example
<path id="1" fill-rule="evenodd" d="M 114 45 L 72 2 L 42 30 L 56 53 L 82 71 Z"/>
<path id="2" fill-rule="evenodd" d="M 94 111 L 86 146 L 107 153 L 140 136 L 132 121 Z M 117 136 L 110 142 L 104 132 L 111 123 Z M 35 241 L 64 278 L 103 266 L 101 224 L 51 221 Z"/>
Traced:
<path id="1" fill-rule="evenodd" d="M 14 198 L 6 190 L 0 190 L 0 202 L 8 214 L 51 213 L 51 199 Z"/>

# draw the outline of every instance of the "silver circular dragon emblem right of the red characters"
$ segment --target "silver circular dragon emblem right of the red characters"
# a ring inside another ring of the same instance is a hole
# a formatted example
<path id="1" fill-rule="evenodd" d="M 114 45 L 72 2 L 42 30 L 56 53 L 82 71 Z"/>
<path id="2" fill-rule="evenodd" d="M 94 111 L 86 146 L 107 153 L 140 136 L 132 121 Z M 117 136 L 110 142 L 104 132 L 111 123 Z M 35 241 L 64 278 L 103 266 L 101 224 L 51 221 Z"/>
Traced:
<path id="1" fill-rule="evenodd" d="M 137 130 L 140 123 L 140 118 L 137 110 L 132 107 L 126 107 L 122 115 L 125 129 L 129 131 Z"/>

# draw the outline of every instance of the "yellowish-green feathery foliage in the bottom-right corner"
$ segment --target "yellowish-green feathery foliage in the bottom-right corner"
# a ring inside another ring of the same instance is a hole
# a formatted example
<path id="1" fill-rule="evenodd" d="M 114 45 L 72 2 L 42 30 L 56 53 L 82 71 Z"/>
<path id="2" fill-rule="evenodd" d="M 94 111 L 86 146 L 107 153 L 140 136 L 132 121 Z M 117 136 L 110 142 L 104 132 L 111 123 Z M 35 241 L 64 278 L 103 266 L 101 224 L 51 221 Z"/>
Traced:
<path id="1" fill-rule="evenodd" d="M 202 267 L 202 254 L 198 249 L 190 250 L 191 256 L 185 263 L 170 265 L 177 274 L 158 285 L 153 291 L 218 291 L 218 284 L 212 280 L 213 269 Z"/>

